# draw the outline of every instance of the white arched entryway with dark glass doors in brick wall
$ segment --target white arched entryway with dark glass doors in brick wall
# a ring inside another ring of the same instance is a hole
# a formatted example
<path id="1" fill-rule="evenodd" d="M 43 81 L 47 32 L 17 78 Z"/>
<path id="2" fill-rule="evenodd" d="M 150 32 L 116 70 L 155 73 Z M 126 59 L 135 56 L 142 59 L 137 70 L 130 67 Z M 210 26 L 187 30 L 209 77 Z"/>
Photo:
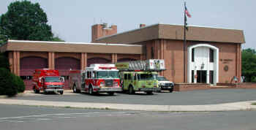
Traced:
<path id="1" fill-rule="evenodd" d="M 219 48 L 208 44 L 188 48 L 187 80 L 189 83 L 219 82 Z"/>

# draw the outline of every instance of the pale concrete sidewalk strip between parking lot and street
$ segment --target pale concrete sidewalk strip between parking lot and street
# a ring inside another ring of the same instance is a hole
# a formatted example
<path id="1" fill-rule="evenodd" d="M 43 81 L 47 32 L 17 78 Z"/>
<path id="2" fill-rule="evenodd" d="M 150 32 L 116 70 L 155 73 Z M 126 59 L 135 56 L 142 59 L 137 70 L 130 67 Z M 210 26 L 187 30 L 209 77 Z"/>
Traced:
<path id="1" fill-rule="evenodd" d="M 233 110 L 256 110 L 252 102 L 234 102 L 226 104 L 209 105 L 146 105 L 146 104 L 106 104 L 88 102 L 45 102 L 20 99 L 0 99 L 0 104 L 19 104 L 45 107 L 67 107 L 81 109 L 105 109 L 105 110 L 142 110 L 142 111 L 163 111 L 163 112 L 217 112 Z"/>

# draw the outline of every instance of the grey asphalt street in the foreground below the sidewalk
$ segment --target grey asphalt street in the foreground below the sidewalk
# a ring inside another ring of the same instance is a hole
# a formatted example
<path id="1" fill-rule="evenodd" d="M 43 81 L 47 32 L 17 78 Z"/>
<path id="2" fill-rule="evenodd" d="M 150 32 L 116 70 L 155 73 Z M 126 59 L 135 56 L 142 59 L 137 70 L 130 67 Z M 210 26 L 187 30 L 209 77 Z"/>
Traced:
<path id="1" fill-rule="evenodd" d="M 255 129 L 255 111 L 142 112 L 0 104 L 1 129 Z"/>

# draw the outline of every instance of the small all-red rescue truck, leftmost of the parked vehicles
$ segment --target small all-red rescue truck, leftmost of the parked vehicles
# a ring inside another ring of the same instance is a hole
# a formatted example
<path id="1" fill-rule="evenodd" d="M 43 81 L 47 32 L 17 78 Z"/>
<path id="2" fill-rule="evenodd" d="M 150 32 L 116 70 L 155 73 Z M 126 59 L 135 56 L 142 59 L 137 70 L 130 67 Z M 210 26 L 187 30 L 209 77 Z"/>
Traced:
<path id="1" fill-rule="evenodd" d="M 64 77 L 59 76 L 58 70 L 36 69 L 32 80 L 34 93 L 64 92 Z"/>

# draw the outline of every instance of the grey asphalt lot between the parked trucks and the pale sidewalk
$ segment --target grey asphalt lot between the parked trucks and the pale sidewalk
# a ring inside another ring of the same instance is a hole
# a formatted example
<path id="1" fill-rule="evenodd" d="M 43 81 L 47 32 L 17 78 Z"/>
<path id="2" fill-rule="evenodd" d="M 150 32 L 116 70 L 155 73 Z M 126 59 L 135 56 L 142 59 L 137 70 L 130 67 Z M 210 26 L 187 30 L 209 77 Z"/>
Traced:
<path id="1" fill-rule="evenodd" d="M 114 104 L 156 104 L 156 105 L 200 105 L 200 104 L 221 104 L 228 102 L 243 102 L 256 99 L 256 89 L 211 89 L 204 91 L 182 91 L 173 93 L 115 93 L 109 96 L 107 93 L 100 93 L 94 96 L 88 93 L 64 92 L 60 94 L 33 94 L 32 96 L 18 96 L 12 99 L 26 99 L 54 102 L 94 102 Z"/>

